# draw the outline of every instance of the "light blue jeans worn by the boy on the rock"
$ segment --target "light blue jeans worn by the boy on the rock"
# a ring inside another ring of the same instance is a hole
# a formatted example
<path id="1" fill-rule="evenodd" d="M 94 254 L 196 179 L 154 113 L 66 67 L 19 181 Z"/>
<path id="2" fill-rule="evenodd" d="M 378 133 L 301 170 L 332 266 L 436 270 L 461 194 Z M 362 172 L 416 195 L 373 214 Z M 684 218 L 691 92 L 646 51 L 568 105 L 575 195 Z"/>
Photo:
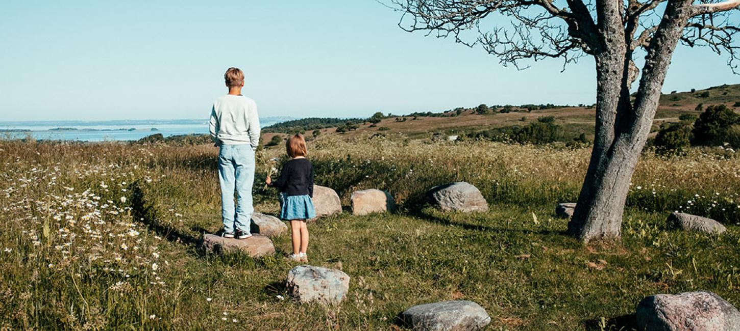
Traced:
<path id="1" fill-rule="evenodd" d="M 221 145 L 218 152 L 218 182 L 221 183 L 223 231 L 249 233 L 252 219 L 252 184 L 255 182 L 255 149 L 251 145 Z M 234 191 L 237 207 L 234 211 Z"/>

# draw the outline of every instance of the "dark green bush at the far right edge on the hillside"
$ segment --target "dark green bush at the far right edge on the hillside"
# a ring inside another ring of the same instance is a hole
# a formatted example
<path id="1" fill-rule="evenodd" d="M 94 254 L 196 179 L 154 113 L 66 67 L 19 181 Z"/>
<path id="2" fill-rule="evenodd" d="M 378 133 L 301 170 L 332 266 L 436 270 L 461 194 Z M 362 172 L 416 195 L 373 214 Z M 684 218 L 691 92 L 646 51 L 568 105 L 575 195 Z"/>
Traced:
<path id="1" fill-rule="evenodd" d="M 727 132 L 738 123 L 740 115 L 724 105 L 708 106 L 693 126 L 694 145 L 720 146 L 727 138 Z"/>

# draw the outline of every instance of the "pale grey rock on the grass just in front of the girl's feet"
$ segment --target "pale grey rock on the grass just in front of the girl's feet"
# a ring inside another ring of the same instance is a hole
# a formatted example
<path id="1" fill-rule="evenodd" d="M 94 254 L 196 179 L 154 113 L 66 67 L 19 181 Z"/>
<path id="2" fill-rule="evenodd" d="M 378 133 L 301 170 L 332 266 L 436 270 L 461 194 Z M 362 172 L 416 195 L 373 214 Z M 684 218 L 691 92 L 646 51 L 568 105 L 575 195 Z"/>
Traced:
<path id="1" fill-rule="evenodd" d="M 286 287 L 301 302 L 338 304 L 349 290 L 349 276 L 340 270 L 299 265 L 288 272 Z"/>

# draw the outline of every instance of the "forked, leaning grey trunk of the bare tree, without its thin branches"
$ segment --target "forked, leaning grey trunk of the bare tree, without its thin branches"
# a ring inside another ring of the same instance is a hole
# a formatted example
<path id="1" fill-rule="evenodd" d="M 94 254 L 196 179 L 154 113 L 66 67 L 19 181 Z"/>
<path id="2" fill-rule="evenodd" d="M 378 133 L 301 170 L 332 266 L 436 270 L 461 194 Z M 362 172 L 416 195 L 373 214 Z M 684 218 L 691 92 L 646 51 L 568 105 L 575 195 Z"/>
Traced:
<path id="1" fill-rule="evenodd" d="M 613 61 L 596 56 L 599 82 L 596 139 L 576 211 L 568 223 L 568 231 L 582 242 L 619 239 L 632 174 L 653 124 L 670 58 L 690 16 L 690 4 L 690 0 L 668 2 L 659 28 L 647 47 L 634 106 L 629 102 L 629 95 L 625 100 L 625 91 L 629 89 L 628 71 L 622 72 L 619 100 L 615 102 L 614 90 L 608 89 L 616 87 L 610 78 L 619 76 L 619 72 L 615 71 Z M 631 55 L 630 52 L 623 54 L 628 70 Z M 612 112 L 616 115 L 613 120 L 608 116 Z"/>

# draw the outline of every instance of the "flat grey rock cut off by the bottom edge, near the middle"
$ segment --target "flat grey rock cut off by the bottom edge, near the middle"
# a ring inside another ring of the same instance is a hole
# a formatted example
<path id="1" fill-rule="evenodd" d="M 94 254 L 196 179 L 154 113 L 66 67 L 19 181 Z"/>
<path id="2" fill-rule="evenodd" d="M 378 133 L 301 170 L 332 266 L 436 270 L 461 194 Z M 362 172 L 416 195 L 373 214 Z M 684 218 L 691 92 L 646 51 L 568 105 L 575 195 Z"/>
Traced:
<path id="1" fill-rule="evenodd" d="M 401 313 L 403 323 L 414 330 L 482 330 L 491 317 L 473 301 L 442 301 L 420 304 Z"/>

